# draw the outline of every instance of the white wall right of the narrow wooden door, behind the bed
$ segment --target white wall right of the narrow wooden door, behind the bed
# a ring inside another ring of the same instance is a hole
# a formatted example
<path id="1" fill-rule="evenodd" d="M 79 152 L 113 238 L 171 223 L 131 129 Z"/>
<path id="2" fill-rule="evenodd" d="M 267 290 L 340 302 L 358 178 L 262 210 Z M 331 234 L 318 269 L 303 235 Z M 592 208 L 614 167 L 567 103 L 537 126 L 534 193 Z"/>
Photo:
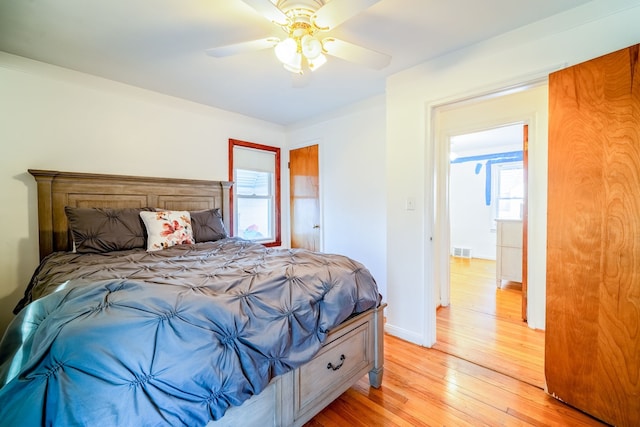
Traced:
<path id="1" fill-rule="evenodd" d="M 371 98 L 289 128 L 288 146 L 318 144 L 323 251 L 362 262 L 386 300 L 385 114 Z"/>

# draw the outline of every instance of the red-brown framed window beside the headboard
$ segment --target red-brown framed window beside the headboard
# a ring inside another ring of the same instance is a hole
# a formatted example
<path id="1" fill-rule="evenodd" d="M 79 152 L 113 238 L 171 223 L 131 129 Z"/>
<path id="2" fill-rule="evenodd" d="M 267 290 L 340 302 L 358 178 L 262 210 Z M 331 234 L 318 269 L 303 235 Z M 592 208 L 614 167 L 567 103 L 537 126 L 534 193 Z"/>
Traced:
<path id="1" fill-rule="evenodd" d="M 280 148 L 229 140 L 231 233 L 279 246 Z"/>

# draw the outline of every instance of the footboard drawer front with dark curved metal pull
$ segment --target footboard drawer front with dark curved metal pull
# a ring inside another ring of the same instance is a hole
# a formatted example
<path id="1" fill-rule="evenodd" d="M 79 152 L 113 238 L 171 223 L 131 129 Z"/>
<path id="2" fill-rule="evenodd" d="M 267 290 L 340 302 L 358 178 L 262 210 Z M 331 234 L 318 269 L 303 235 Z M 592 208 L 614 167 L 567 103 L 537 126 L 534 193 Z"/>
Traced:
<path id="1" fill-rule="evenodd" d="M 369 322 L 360 324 L 348 333 L 325 345 L 316 357 L 295 373 L 297 396 L 296 415 L 304 413 L 322 400 L 323 394 L 340 389 L 355 373 L 367 370 L 372 362 Z"/>

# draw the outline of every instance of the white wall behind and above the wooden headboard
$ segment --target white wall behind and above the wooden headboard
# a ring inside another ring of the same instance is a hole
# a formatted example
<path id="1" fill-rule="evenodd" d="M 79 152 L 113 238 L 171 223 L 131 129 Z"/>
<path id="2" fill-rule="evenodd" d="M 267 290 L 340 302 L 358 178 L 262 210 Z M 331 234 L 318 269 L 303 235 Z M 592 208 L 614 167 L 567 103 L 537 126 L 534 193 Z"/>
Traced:
<path id="1" fill-rule="evenodd" d="M 0 334 L 38 265 L 27 169 L 227 180 L 229 138 L 283 146 L 285 136 L 279 125 L 0 53 Z"/>

